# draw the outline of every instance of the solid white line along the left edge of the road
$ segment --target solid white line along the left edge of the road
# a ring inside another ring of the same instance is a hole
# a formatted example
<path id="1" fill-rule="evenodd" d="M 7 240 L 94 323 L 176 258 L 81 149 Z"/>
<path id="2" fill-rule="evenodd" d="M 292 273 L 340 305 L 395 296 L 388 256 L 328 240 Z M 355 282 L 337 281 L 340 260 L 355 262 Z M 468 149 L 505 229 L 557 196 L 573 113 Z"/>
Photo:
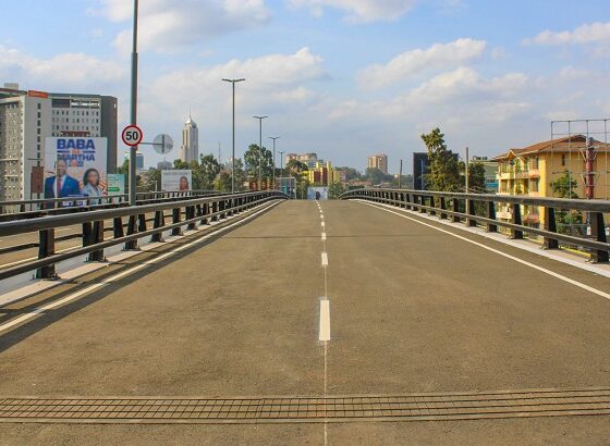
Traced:
<path id="1" fill-rule="evenodd" d="M 278 202 L 279 202 L 279 201 L 278 201 Z M 137 272 L 137 271 L 139 271 L 139 270 L 142 270 L 142 269 L 144 269 L 144 268 L 146 268 L 146 267 L 148 267 L 148 265 L 150 265 L 150 264 L 152 264 L 152 263 L 158 263 L 158 262 L 160 262 L 161 260 L 164 260 L 164 259 L 167 259 L 168 257 L 171 257 L 171 256 L 173 256 L 173 255 L 176 253 L 176 252 L 181 252 L 181 251 L 183 251 L 183 250 L 185 250 L 185 249 L 191 248 L 192 246 L 198 245 L 198 244 L 200 244 L 202 241 L 207 240 L 207 239 L 210 238 L 210 237 L 213 237 L 213 236 L 216 236 L 216 235 L 218 235 L 218 234 L 220 234 L 220 233 L 223 233 L 223 232 L 230 230 L 230 228 L 233 227 L 233 226 L 236 226 L 236 225 L 239 225 L 239 224 L 241 224 L 241 223 L 244 223 L 244 222 L 246 222 L 246 221 L 248 221 L 248 220 L 255 218 L 256 215 L 258 215 L 259 213 L 264 212 L 265 210 L 270 209 L 270 208 L 277 206 L 278 202 L 274 202 L 274 203 L 272 203 L 272 205 L 270 205 L 270 206 L 267 206 L 267 207 L 265 207 L 264 209 L 260 209 L 259 211 L 257 211 L 256 213 L 253 213 L 252 215 L 248 215 L 248 216 L 244 218 L 243 220 L 240 220 L 240 221 L 237 221 L 237 222 L 235 222 L 235 223 L 232 223 L 232 224 L 230 224 L 230 225 L 228 225 L 228 226 L 221 227 L 221 228 L 219 228 L 218 231 L 215 231 L 215 232 L 211 233 L 211 234 L 205 235 L 205 236 L 203 236 L 203 237 L 200 237 L 200 238 L 197 238 L 197 239 L 194 240 L 194 241 L 191 241 L 191 243 L 188 243 L 188 244 L 182 245 L 182 246 L 178 247 L 176 249 L 174 249 L 174 250 L 172 250 L 172 251 L 170 251 L 170 252 L 162 253 L 162 255 L 160 255 L 159 257 L 156 257 L 154 260 L 147 261 L 146 263 L 139 263 L 139 264 L 137 264 L 136 267 L 130 268 L 129 270 L 125 270 L 125 271 L 123 271 L 123 272 L 121 272 L 121 273 L 118 273 L 118 274 L 115 274 L 115 275 L 113 275 L 113 276 L 108 277 L 108 278 L 105 280 L 103 282 L 100 282 L 100 283 L 90 285 L 90 286 L 88 286 L 88 287 L 86 287 L 86 288 L 84 288 L 84 289 L 81 289 L 80 292 L 76 292 L 76 293 L 73 293 L 73 294 L 71 294 L 71 295 L 68 295 L 68 296 L 64 297 L 63 299 L 56 300 L 56 301 L 50 302 L 50 303 L 47 303 L 47 305 L 45 305 L 45 306 L 42 306 L 42 307 L 38 307 L 38 308 L 32 310 L 30 312 L 27 312 L 27 313 L 25 313 L 25 314 L 22 314 L 21 317 L 19 317 L 19 318 L 16 318 L 16 319 L 14 319 L 14 320 L 12 320 L 12 321 L 10 321 L 10 322 L 7 322 L 7 323 L 0 325 L 0 333 L 4 332 L 4 331 L 11 329 L 12 326 L 15 326 L 15 325 L 17 325 L 17 324 L 20 324 L 20 323 L 22 323 L 22 322 L 27 321 L 28 319 L 35 318 L 36 315 L 38 315 L 38 314 L 40 314 L 40 313 L 44 313 L 44 312 L 46 312 L 46 311 L 48 311 L 48 310 L 52 310 L 52 309 L 54 309 L 54 308 L 61 307 L 62 305 L 68 303 L 68 302 L 70 302 L 70 301 L 74 300 L 74 299 L 77 299 L 77 298 L 81 297 L 81 296 L 84 296 L 84 295 L 86 295 L 86 294 L 89 294 L 89 293 L 91 293 L 91 292 L 95 292 L 95 290 L 98 289 L 98 288 L 101 288 L 102 286 L 106 286 L 106 285 L 108 285 L 108 284 L 111 284 L 111 283 L 113 283 L 113 282 L 117 282 L 118 280 L 123 278 L 123 277 L 125 277 L 125 276 L 127 276 L 127 275 L 131 275 L 131 274 L 133 274 L 133 273 L 135 273 L 135 272 Z"/>

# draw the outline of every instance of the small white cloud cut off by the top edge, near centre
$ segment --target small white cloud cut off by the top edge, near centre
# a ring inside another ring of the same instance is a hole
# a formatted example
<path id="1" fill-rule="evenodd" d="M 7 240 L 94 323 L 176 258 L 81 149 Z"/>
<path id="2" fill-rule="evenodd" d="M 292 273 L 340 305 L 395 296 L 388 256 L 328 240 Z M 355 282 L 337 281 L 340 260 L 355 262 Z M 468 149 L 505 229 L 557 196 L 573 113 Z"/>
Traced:
<path id="1" fill-rule="evenodd" d="M 392 21 L 406 14 L 415 0 L 290 0 L 294 7 L 309 8 L 321 15 L 324 8 L 333 8 L 347 13 L 353 22 Z"/>

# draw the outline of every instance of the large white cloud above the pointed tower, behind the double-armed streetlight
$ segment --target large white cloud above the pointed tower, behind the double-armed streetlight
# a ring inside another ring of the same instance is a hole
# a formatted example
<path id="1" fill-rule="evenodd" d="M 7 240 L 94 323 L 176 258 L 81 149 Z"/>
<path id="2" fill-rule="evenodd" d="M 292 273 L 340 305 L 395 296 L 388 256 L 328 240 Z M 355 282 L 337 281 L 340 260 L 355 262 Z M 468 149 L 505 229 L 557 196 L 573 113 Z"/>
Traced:
<path id="1" fill-rule="evenodd" d="M 192 109 L 193 117 L 203 128 L 205 145 L 207 129 L 224 128 L 230 119 L 231 86 L 222 78 L 246 79 L 236 86 L 236 103 L 241 125 L 249 126 L 254 125 L 249 117 L 253 114 L 269 114 L 273 116 L 273 122 L 278 122 L 308 107 L 317 98 L 308 84 L 327 77 L 322 59 L 308 48 L 291 54 L 277 53 L 230 60 L 212 66 L 182 67 L 143 84 L 141 115 L 154 126 L 167 126 L 167 116 L 172 116 L 178 121 L 174 122 L 178 127 L 181 125 L 179 120 Z M 159 110 L 163 113 L 160 114 Z"/>

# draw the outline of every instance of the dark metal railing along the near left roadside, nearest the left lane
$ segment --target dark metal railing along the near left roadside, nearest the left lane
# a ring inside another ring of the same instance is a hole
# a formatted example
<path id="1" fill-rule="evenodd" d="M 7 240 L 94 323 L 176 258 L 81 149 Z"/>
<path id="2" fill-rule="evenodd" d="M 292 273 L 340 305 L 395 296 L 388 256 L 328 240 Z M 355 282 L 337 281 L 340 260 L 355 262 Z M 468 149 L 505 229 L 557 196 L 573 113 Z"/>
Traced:
<path id="1" fill-rule="evenodd" d="M 179 197 L 163 199 L 160 202 L 143 203 L 135 207 L 86 210 L 84 212 L 60 215 L 45 215 L 30 219 L 0 222 L 0 238 L 10 240 L 12 236 L 37 233 L 37 260 L 16 262 L 17 264 L 2 268 L 0 280 L 9 278 L 29 271 L 36 271 L 37 278 L 54 278 L 56 264 L 72 258 L 88 256 L 89 261 L 102 261 L 103 250 L 123 245 L 126 250 L 137 249 L 137 240 L 150 237 L 151 241 L 161 241 L 162 234 L 171 231 L 180 235 L 182 227 L 195 230 L 197 224 L 204 225 L 211 221 L 220 221 L 230 215 L 243 212 L 269 200 L 286 199 L 279 191 L 253 191 L 243 194 L 215 195 L 208 197 Z M 171 211 L 167 215 L 166 211 Z M 167 216 L 171 222 L 167 223 Z M 126 219 L 124 221 L 123 219 Z M 109 227 L 105 223 L 111 221 Z M 151 223 L 151 227 L 149 226 Z M 83 239 L 81 247 L 56 252 L 56 230 L 66 226 L 82 225 Z M 111 232 L 112 237 L 106 238 L 105 233 Z M 14 252 L 32 248 L 33 243 L 22 241 L 10 247 L 0 248 L 0 252 Z"/>

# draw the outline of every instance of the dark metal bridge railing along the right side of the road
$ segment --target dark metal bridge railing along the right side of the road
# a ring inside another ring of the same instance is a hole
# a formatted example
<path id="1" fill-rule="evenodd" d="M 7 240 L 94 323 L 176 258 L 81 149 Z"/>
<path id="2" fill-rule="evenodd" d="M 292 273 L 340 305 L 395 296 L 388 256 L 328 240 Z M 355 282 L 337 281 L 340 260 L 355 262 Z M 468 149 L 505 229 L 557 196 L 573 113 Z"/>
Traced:
<path id="1" fill-rule="evenodd" d="M 560 243 L 590 251 L 590 261 L 608 262 L 610 244 L 606 234 L 605 214 L 610 214 L 610 201 L 547 197 L 523 197 L 491 194 L 462 194 L 432 190 L 377 189 L 349 190 L 341 199 L 362 199 L 410 209 L 422 213 L 451 219 L 467 226 L 481 225 L 487 232 L 505 228 L 511 238 L 524 238 L 524 233 L 541 236 L 545 249 L 558 249 Z M 497 218 L 499 206 L 509 206 L 510 220 Z M 522 207 L 539 207 L 544 214 L 542 227 L 525 225 Z M 590 235 L 570 235 L 558 232 L 559 212 L 585 212 Z"/>

